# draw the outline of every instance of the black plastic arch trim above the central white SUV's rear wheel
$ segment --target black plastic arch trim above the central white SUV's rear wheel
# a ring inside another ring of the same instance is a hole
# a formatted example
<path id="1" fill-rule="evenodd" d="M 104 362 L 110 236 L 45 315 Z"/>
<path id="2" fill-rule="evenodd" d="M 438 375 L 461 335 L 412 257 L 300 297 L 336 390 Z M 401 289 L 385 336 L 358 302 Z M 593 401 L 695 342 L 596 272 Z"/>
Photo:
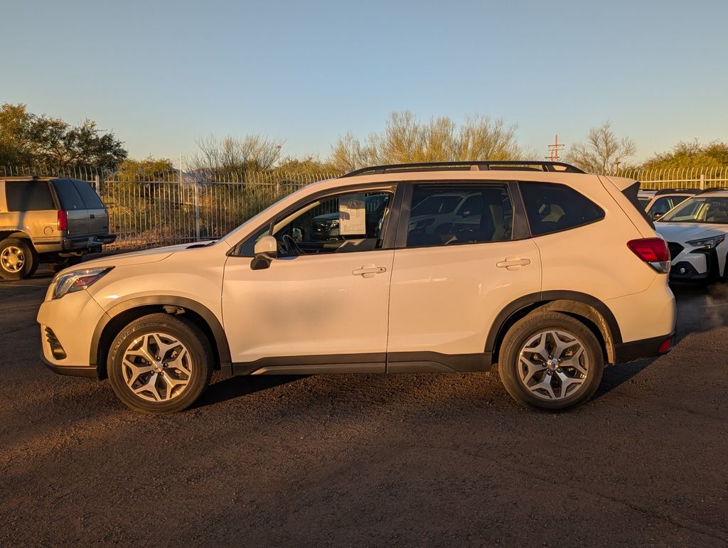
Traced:
<path id="1" fill-rule="evenodd" d="M 488 331 L 485 351 L 496 357 L 497 345 L 509 327 L 509 320 L 524 309 L 552 310 L 577 314 L 590 319 L 598 327 L 609 362 L 614 363 L 614 346 L 622 343 L 622 333 L 617 319 L 602 301 L 593 295 L 569 290 L 551 290 L 523 295 L 502 309 Z M 529 310 L 529 311 L 531 311 Z M 595 314 L 596 312 L 596 314 Z"/>

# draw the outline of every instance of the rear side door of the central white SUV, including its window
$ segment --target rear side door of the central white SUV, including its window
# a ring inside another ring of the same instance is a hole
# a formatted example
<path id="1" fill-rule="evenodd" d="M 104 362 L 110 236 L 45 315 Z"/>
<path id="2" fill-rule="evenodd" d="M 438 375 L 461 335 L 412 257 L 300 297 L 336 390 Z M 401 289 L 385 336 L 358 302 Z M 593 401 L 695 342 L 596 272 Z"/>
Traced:
<path id="1" fill-rule="evenodd" d="M 541 290 L 539 252 L 520 210 L 514 215 L 514 189 L 508 183 L 455 181 L 408 188 L 392 270 L 387 371 L 411 370 L 416 363 L 422 370 L 490 365 L 484 352 L 496 316 Z M 478 224 L 427 234 L 409 221 L 411 207 L 445 193 L 480 196 L 474 207 Z"/>

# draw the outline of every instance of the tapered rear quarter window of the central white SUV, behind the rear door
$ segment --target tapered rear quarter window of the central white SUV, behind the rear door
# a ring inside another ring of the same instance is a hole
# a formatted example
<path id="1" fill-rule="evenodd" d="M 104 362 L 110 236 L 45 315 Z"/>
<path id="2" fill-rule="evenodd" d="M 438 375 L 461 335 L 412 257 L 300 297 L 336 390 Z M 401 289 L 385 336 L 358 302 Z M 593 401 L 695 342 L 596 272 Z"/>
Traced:
<path id="1" fill-rule="evenodd" d="M 519 183 L 531 234 L 573 229 L 604 218 L 604 210 L 574 188 L 553 183 Z"/>

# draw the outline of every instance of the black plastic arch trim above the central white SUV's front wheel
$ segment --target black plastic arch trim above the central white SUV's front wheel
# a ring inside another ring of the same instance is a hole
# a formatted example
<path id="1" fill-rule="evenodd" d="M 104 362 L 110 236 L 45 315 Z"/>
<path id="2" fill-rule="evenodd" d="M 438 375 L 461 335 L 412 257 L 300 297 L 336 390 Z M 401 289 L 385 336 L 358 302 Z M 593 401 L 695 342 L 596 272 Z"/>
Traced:
<path id="1" fill-rule="evenodd" d="M 115 317 L 119 316 L 119 314 L 132 309 L 141 308 L 142 306 L 159 306 L 160 308 L 162 306 L 176 306 L 182 309 L 189 309 L 195 314 L 198 314 L 199 317 L 202 317 L 202 319 L 205 320 L 207 326 L 210 327 L 210 331 L 213 333 L 213 337 L 215 338 L 214 343 L 217 349 L 216 354 L 218 355 L 221 367 L 230 363 L 230 346 L 228 344 L 227 336 L 225 335 L 225 330 L 223 330 L 223 326 L 220 321 L 215 314 L 207 308 L 207 306 L 186 297 L 178 297 L 175 295 L 150 295 L 148 297 L 130 298 L 122 303 L 116 303 L 106 311 L 106 314 L 104 314 L 99 320 L 93 333 L 89 354 L 90 365 L 98 368 L 98 348 L 101 335 L 106 329 L 106 326 L 111 323 Z"/>

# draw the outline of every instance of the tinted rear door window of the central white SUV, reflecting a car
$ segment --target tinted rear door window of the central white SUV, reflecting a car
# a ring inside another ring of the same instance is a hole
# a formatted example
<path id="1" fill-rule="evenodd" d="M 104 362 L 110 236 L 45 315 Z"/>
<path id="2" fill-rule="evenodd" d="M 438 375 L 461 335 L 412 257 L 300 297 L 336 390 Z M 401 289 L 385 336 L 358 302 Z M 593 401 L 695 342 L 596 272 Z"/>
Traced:
<path id="1" fill-rule="evenodd" d="M 456 205 L 412 207 L 407 247 L 500 242 L 510 239 L 513 231 L 513 207 L 505 185 L 417 185 L 412 203 Z"/>

